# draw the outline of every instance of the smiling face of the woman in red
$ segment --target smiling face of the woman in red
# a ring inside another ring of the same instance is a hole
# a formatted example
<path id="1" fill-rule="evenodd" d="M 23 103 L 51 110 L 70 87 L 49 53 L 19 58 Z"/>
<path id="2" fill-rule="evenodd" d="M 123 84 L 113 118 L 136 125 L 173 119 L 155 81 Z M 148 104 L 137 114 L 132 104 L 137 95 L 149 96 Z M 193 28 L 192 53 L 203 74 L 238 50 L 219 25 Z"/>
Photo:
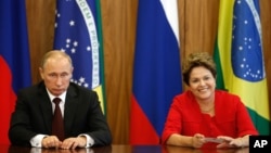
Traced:
<path id="1" fill-rule="evenodd" d="M 204 66 L 194 67 L 190 74 L 190 90 L 198 100 L 214 98 L 216 79 L 211 72 Z"/>

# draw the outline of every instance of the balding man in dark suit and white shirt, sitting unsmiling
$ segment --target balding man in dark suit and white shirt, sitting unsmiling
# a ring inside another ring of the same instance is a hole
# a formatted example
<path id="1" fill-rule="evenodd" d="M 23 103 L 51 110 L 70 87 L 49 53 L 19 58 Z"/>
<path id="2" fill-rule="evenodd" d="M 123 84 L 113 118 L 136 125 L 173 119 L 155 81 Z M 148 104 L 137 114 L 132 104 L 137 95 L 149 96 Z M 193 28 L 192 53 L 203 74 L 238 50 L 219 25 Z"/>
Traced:
<path id="1" fill-rule="evenodd" d="M 39 67 L 42 81 L 17 94 L 9 130 L 12 144 L 75 149 L 112 143 L 98 94 L 70 82 L 73 69 L 70 58 L 62 51 L 43 56 Z M 54 98 L 61 99 L 63 140 L 52 132 Z"/>

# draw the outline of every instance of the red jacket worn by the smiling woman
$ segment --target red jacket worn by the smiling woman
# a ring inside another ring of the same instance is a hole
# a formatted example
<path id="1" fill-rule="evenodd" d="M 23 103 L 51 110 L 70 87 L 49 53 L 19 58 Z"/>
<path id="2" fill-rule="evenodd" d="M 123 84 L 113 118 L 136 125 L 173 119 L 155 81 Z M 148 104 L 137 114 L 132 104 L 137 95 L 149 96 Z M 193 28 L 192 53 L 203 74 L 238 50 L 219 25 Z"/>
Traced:
<path id="1" fill-rule="evenodd" d="M 205 137 L 258 135 L 253 120 L 237 95 L 227 91 L 215 91 L 215 116 L 201 113 L 199 105 L 191 91 L 177 95 L 170 106 L 162 143 L 172 133 Z"/>

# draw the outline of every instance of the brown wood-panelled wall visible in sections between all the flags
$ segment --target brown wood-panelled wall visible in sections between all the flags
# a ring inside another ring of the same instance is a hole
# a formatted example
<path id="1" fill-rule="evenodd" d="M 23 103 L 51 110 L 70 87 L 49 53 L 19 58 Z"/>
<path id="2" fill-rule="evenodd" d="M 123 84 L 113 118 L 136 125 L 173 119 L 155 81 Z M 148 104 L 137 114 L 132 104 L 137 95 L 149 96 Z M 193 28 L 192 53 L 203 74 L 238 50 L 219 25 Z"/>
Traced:
<path id="1" fill-rule="evenodd" d="M 271 85 L 271 2 L 261 0 L 266 69 Z M 129 112 L 138 0 L 101 0 L 107 120 L 114 144 L 129 143 Z M 218 0 L 179 0 L 181 58 L 194 51 L 212 53 Z M 26 0 L 33 82 L 40 80 L 40 58 L 53 47 L 55 0 Z M 269 91 L 269 94 L 271 91 Z"/>

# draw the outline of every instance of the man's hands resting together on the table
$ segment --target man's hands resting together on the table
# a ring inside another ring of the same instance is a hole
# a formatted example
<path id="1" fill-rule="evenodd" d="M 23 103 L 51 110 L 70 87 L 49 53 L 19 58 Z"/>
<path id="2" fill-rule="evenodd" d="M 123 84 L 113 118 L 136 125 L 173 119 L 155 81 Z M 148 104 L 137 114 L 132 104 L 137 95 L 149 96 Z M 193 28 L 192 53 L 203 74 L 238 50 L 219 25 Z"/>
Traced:
<path id="1" fill-rule="evenodd" d="M 42 148 L 56 148 L 56 149 L 76 149 L 85 148 L 87 138 L 85 136 L 72 137 L 65 139 L 63 142 L 56 136 L 44 137 L 41 141 Z"/>

